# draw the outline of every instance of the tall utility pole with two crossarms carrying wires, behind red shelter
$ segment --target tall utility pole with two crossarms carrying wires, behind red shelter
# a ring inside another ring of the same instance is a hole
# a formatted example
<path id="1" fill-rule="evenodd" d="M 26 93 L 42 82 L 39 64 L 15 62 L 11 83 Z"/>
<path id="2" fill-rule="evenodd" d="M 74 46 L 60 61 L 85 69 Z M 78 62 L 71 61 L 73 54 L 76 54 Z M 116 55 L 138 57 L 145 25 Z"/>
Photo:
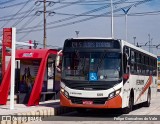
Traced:
<path id="1" fill-rule="evenodd" d="M 43 3 L 43 11 L 36 11 L 36 15 L 40 15 L 41 13 L 43 13 L 43 26 L 44 26 L 44 29 L 43 29 L 43 48 L 46 48 L 46 45 L 47 45 L 47 31 L 46 31 L 46 13 L 48 13 L 48 15 L 53 15 L 55 14 L 55 12 L 51 12 L 51 11 L 47 11 L 46 10 L 46 3 L 48 3 L 49 6 L 53 6 L 55 4 L 55 2 L 53 1 L 46 1 L 46 0 L 42 0 L 42 1 L 36 1 L 35 2 L 35 5 L 39 6 L 40 3 Z"/>

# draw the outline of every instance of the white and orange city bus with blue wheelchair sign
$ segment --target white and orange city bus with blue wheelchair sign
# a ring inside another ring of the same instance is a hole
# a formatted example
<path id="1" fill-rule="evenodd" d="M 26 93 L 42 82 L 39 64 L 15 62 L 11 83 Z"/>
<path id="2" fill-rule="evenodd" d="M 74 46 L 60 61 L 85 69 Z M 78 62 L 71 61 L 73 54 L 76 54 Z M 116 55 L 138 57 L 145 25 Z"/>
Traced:
<path id="1" fill-rule="evenodd" d="M 120 39 L 66 39 L 60 86 L 60 105 L 78 112 L 149 107 L 157 91 L 157 56 Z"/>

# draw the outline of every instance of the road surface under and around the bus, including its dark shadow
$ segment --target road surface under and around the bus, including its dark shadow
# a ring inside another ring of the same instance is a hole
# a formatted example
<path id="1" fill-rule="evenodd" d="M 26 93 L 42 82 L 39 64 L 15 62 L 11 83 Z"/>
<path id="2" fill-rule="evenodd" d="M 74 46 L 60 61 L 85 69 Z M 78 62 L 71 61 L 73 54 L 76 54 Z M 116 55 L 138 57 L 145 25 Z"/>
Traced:
<path id="1" fill-rule="evenodd" d="M 35 124 L 37 122 L 30 122 Z M 135 106 L 129 114 L 120 110 L 89 110 L 86 113 L 71 112 L 45 118 L 38 124 L 159 124 L 160 123 L 160 92 L 152 98 L 150 107 Z"/>

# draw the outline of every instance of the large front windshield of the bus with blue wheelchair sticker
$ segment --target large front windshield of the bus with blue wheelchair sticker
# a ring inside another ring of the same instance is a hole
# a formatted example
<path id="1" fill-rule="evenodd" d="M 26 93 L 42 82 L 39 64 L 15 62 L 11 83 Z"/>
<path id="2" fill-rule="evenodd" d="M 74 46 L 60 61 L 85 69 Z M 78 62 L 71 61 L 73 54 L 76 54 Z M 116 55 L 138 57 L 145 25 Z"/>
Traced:
<path id="1" fill-rule="evenodd" d="M 118 52 L 64 52 L 62 79 L 79 81 L 118 81 L 121 54 Z M 95 79 L 90 79 L 95 75 Z"/>

